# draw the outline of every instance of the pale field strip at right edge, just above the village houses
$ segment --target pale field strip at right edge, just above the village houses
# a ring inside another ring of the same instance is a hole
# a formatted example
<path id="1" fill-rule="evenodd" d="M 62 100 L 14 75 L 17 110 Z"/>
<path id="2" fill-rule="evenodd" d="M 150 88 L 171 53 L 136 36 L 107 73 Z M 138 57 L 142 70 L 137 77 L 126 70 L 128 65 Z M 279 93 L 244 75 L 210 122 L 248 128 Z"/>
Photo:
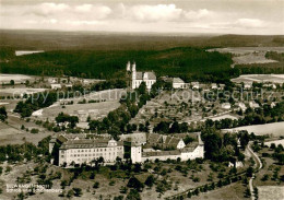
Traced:
<path id="1" fill-rule="evenodd" d="M 284 74 L 246 74 L 240 75 L 236 79 L 232 79 L 235 83 L 241 83 L 241 82 L 272 82 L 272 83 L 284 83 Z"/>

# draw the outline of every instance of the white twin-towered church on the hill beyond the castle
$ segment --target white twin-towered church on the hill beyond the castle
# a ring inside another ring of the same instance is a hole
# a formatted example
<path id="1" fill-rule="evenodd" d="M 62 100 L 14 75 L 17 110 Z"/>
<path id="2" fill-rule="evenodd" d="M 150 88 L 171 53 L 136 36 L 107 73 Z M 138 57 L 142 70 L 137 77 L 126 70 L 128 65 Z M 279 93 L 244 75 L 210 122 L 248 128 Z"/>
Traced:
<path id="1" fill-rule="evenodd" d="M 135 62 L 131 63 L 128 61 L 127 63 L 127 72 L 130 74 L 130 87 L 138 89 L 142 82 L 145 82 L 147 90 L 152 89 L 152 85 L 156 82 L 156 75 L 153 71 L 137 71 Z"/>

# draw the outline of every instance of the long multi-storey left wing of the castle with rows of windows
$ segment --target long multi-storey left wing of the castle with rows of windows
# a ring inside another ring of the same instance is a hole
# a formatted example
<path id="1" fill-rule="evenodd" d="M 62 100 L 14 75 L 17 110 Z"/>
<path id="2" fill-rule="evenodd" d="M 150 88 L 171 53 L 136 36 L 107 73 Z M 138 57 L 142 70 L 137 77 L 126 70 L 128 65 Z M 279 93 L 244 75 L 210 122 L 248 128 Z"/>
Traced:
<path id="1" fill-rule="evenodd" d="M 123 142 L 109 139 L 87 139 L 84 134 L 73 137 L 61 134 L 49 142 L 49 152 L 59 143 L 58 165 L 93 164 L 99 157 L 105 164 L 114 164 L 117 157 L 123 158 Z"/>

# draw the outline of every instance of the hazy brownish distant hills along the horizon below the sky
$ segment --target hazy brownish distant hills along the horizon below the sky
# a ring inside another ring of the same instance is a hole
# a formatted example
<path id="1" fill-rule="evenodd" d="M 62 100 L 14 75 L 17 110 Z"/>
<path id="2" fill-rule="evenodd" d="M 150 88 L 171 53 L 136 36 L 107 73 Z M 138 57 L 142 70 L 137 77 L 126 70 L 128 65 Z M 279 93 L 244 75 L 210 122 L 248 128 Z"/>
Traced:
<path id="1" fill-rule="evenodd" d="M 284 36 L 0 31 L 0 47 L 17 50 L 159 50 L 185 46 L 284 46 Z"/>

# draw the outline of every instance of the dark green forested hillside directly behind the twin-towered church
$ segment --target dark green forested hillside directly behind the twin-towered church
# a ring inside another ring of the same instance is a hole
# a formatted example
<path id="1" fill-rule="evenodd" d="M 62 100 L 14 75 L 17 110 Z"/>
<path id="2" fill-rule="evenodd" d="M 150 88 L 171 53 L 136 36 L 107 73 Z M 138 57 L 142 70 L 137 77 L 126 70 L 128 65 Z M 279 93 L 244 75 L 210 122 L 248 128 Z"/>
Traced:
<path id="1" fill-rule="evenodd" d="M 185 78 L 227 72 L 232 63 L 230 55 L 191 47 L 165 50 L 58 50 L 7 59 L 8 62 L 1 63 L 2 73 L 67 74 L 97 79 L 123 78 L 128 60 L 135 61 L 138 70 Z"/>

